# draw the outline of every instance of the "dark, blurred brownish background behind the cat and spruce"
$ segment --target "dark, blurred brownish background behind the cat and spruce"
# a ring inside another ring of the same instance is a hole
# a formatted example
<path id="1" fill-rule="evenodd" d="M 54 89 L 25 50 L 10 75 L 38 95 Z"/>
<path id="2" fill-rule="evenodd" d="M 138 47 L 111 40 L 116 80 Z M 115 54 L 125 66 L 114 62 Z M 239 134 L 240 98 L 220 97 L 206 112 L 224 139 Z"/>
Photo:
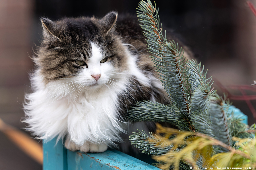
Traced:
<path id="1" fill-rule="evenodd" d="M 256 5 L 256 0 L 251 2 Z M 20 122 L 24 116 L 22 103 L 30 86 L 28 74 L 33 69 L 29 56 L 33 46 L 40 45 L 41 16 L 53 20 L 64 16 L 102 17 L 111 10 L 135 14 L 138 3 L 139 0 L 1 0 L 0 118 L 21 130 L 26 126 Z M 176 33 L 190 47 L 194 58 L 208 69 L 208 77 L 213 76 L 219 95 L 223 94 L 220 84 L 232 95 L 255 95 L 253 89 L 246 87 L 256 80 L 256 17 L 245 0 L 156 0 L 156 5 L 163 29 Z M 234 99 L 239 97 L 233 96 L 231 101 L 249 117 L 249 125 L 255 123 L 255 101 Z M 36 170 L 42 165 L 14 145 L 1 129 L 0 169 Z"/>

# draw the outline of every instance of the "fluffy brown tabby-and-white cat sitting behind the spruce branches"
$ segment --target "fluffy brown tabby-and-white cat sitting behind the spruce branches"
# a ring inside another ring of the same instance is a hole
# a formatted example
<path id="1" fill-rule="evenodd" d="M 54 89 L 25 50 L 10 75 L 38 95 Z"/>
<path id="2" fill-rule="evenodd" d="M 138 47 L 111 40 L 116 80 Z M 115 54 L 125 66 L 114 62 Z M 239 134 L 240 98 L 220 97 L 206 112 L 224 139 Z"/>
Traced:
<path id="1" fill-rule="evenodd" d="M 65 147 L 104 152 L 115 147 L 134 125 L 124 120 L 137 101 L 169 103 L 146 50 L 137 19 L 41 18 L 43 41 L 36 47 L 33 92 L 25 95 L 23 122 L 38 139 L 66 138 Z M 132 128 L 134 126 L 134 128 Z M 122 137 L 120 137 L 122 136 Z M 121 150 L 127 146 L 121 144 Z M 125 148 L 126 147 L 126 148 Z"/>

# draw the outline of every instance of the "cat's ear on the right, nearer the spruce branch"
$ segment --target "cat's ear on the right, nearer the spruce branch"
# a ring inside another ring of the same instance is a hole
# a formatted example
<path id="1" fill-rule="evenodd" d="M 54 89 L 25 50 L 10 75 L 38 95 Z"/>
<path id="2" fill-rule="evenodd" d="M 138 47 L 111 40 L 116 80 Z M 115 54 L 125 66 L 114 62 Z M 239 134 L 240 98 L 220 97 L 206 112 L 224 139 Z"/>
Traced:
<path id="1" fill-rule="evenodd" d="M 115 27 L 115 22 L 117 20 L 117 12 L 110 12 L 106 14 L 103 18 L 99 20 L 100 24 L 104 27 L 106 34 Z"/>

